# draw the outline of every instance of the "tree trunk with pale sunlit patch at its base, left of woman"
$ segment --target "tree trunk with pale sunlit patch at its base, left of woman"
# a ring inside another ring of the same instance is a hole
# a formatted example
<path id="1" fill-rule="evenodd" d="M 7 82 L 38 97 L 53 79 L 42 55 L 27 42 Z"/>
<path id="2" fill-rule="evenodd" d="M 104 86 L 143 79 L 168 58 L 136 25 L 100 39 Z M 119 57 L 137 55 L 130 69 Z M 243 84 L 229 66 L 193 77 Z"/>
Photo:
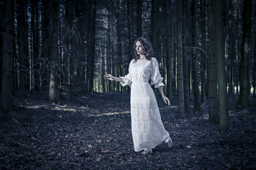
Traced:
<path id="1" fill-rule="evenodd" d="M 49 94 L 48 101 L 57 101 L 58 99 L 58 89 L 57 89 L 57 65 L 58 65 L 58 2 L 52 1 L 51 3 L 51 36 L 50 36 L 50 83 L 49 83 Z"/>

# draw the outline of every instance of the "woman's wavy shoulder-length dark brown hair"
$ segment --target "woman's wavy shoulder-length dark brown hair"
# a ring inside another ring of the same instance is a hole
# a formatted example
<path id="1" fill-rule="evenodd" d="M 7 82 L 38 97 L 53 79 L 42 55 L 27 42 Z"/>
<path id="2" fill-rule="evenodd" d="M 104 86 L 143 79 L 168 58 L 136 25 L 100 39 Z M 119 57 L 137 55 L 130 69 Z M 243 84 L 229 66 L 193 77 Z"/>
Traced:
<path id="1" fill-rule="evenodd" d="M 134 45 L 133 45 L 133 48 L 134 48 L 134 63 L 136 63 L 137 60 L 140 58 L 140 55 L 137 54 L 137 50 L 136 50 L 137 41 L 140 41 L 140 44 L 142 46 L 142 50 L 146 55 L 146 59 L 151 60 L 151 58 L 154 55 L 152 45 L 151 45 L 150 41 L 147 38 L 140 37 L 140 38 L 138 38 L 137 40 L 134 41 Z"/>

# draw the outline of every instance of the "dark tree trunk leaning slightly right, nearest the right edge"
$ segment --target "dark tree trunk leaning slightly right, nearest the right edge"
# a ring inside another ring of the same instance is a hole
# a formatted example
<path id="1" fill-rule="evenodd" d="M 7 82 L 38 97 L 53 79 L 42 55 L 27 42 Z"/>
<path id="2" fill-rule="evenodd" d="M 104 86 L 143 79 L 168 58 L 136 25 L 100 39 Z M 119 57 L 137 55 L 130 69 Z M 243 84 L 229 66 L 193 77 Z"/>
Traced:
<path id="1" fill-rule="evenodd" d="M 244 1 L 244 22 L 243 22 L 243 41 L 241 49 L 241 60 L 239 65 L 239 99 L 238 105 L 242 108 L 248 107 L 248 83 L 247 75 L 249 61 L 249 44 L 251 37 L 251 15 L 252 15 L 252 0 Z"/>

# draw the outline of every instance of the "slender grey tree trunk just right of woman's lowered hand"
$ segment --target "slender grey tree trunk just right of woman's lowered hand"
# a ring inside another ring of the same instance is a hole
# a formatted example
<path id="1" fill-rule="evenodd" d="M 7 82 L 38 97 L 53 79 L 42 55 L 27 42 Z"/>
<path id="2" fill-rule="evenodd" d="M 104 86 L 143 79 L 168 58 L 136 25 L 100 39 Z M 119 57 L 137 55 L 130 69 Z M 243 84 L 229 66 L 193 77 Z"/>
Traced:
<path id="1" fill-rule="evenodd" d="M 177 1 L 177 78 L 178 78 L 178 114 L 185 118 L 183 64 L 182 64 L 182 1 Z"/>

